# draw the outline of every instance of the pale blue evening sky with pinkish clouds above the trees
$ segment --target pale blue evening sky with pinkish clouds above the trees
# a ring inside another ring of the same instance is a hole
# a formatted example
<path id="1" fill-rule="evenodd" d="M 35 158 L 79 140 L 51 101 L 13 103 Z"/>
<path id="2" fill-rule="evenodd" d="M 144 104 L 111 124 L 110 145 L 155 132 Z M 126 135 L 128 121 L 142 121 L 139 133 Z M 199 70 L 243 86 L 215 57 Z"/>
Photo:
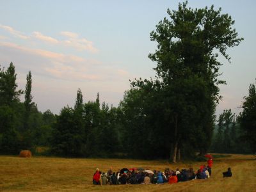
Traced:
<path id="1" fill-rule="evenodd" d="M 84 102 L 95 100 L 118 106 L 129 89 L 129 79 L 154 77 L 156 63 L 148 54 L 157 49 L 150 31 L 177 10 L 176 0 L 6 1 L 0 0 L 0 65 L 13 62 L 17 83 L 24 90 L 32 74 L 32 95 L 38 109 L 59 114 L 74 106 L 77 89 Z M 256 1 L 188 1 L 191 8 L 222 8 L 236 22 L 244 41 L 228 49 L 231 63 L 220 58 L 223 109 L 236 114 L 250 83 L 256 78 Z M 20 98 L 24 100 L 23 98 Z"/>

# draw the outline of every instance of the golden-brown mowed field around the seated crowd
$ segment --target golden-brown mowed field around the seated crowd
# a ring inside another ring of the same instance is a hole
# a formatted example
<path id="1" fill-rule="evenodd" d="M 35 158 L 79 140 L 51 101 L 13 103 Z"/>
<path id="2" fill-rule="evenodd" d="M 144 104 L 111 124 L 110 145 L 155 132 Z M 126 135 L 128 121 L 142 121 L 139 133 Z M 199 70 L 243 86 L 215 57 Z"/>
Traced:
<path id="1" fill-rule="evenodd" d="M 143 167 L 150 170 L 177 167 L 197 170 L 202 163 L 177 163 L 130 159 L 68 159 L 58 157 L 20 158 L 0 156 L 0 191 L 256 191 L 256 160 L 250 155 L 232 155 L 214 159 L 212 177 L 177 184 L 137 184 L 93 186 L 95 168 L 107 172 L 110 166 Z M 233 177 L 222 172 L 232 168 Z"/>

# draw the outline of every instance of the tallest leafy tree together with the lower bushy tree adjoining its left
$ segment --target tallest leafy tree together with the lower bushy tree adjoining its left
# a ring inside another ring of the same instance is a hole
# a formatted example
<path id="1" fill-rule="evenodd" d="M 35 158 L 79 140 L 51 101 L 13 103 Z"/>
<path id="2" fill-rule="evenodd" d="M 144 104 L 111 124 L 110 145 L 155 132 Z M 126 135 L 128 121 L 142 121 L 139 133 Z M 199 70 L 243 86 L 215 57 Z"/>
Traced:
<path id="1" fill-rule="evenodd" d="M 230 61 L 227 48 L 243 38 L 221 9 L 187 6 L 186 1 L 177 11 L 168 9 L 170 20 L 164 18 L 150 33 L 157 42 L 156 52 L 148 56 L 157 62 L 156 81 L 135 79 L 121 103 L 127 118 L 125 142 L 134 156 L 172 156 L 175 162 L 188 150 L 204 154 L 211 145 L 221 99 L 218 84 L 225 83 L 218 79 L 222 64 L 216 51 Z M 138 138 L 140 146 L 129 138 Z"/>

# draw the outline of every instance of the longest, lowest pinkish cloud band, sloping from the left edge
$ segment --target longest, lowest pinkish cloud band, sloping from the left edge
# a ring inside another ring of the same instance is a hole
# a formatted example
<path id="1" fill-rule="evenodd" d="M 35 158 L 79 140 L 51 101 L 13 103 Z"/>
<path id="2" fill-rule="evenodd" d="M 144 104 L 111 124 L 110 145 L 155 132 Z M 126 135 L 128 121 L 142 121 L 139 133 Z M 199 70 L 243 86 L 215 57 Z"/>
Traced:
<path id="1" fill-rule="evenodd" d="M 32 49 L 11 42 L 0 42 L 0 52 L 0 57 L 6 55 L 7 60 L 19 62 L 22 70 L 54 79 L 108 84 L 128 83 L 129 79 L 129 73 L 123 69 L 75 55 Z"/>

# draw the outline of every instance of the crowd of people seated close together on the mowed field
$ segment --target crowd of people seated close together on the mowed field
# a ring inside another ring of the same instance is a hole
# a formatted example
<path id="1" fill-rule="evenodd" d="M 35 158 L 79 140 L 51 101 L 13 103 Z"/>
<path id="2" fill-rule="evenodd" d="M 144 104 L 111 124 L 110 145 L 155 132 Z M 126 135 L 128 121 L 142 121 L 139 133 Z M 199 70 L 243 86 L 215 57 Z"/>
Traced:
<path id="1" fill-rule="evenodd" d="M 150 170 L 119 170 L 113 172 L 112 168 L 107 173 L 100 172 L 99 168 L 93 175 L 93 184 L 106 185 L 106 184 L 163 184 L 163 183 L 177 183 L 193 179 L 207 179 L 211 176 L 210 166 L 201 166 L 197 172 L 193 168 L 188 170 L 176 168 L 170 170 L 166 168 L 164 172 L 154 172 Z"/>

